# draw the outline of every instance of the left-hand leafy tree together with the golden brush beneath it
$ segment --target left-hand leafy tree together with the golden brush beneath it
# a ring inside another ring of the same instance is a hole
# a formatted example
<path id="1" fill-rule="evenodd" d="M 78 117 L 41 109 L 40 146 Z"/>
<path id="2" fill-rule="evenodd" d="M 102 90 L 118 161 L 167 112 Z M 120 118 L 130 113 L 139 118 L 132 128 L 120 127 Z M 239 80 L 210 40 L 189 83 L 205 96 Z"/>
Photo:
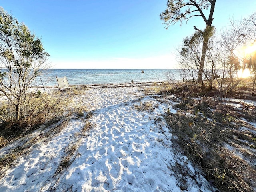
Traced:
<path id="1" fill-rule="evenodd" d="M 48 57 L 40 38 L 0 8 L 1 136 L 15 137 L 61 116 L 65 97 L 49 94 L 40 81 Z"/>

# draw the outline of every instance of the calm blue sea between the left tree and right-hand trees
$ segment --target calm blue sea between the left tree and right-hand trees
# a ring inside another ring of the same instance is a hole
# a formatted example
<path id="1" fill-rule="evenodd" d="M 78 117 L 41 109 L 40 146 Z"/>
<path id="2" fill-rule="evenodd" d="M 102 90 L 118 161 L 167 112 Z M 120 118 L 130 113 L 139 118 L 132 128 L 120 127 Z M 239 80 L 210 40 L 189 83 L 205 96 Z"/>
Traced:
<path id="1" fill-rule="evenodd" d="M 70 85 L 84 84 L 117 84 L 138 82 L 166 81 L 166 72 L 175 80 L 181 80 L 178 69 L 48 69 L 44 70 L 37 84 L 44 86 L 58 85 L 56 76 L 66 76 Z"/>

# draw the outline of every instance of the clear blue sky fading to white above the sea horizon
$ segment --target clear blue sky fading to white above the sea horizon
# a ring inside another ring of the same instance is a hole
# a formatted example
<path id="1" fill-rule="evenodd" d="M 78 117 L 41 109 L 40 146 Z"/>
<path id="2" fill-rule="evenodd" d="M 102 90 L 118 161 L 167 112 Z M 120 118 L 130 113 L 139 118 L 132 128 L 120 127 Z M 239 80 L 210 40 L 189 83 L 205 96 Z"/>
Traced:
<path id="1" fill-rule="evenodd" d="M 170 26 L 167 0 L 0 0 L 40 37 L 52 68 L 178 68 L 182 39 L 204 29 L 202 18 Z M 228 26 L 256 11 L 256 0 L 216 0 L 213 25 Z"/>

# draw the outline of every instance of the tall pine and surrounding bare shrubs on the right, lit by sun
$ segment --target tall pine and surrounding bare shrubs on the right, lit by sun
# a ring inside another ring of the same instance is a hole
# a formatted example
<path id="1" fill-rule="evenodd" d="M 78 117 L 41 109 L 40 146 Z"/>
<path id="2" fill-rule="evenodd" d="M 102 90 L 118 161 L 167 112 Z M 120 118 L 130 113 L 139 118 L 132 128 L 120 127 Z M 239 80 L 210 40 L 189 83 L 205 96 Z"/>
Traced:
<path id="1" fill-rule="evenodd" d="M 196 32 L 184 38 L 182 46 L 177 49 L 181 77 L 184 82 L 192 82 L 202 96 L 217 91 L 221 97 L 230 94 L 247 79 L 252 81 L 251 89 L 254 90 L 256 13 L 238 21 L 230 19 L 231 25 L 215 36 L 216 29 L 212 26 L 215 2 L 168 0 L 166 10 L 160 14 L 166 28 L 196 16 L 202 17 L 206 23 L 204 30 L 194 26 Z"/>

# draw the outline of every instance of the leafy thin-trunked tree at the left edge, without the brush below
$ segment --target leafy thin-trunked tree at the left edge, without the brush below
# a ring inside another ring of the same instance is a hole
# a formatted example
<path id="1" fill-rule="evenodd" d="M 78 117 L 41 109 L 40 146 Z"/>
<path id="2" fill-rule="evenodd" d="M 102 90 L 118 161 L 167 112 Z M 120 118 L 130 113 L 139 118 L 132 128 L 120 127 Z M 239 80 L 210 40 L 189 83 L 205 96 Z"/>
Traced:
<path id="1" fill-rule="evenodd" d="M 21 118 L 21 107 L 29 102 L 28 89 L 45 68 L 48 56 L 41 40 L 0 8 L 0 92 L 15 106 L 16 120 Z"/>

